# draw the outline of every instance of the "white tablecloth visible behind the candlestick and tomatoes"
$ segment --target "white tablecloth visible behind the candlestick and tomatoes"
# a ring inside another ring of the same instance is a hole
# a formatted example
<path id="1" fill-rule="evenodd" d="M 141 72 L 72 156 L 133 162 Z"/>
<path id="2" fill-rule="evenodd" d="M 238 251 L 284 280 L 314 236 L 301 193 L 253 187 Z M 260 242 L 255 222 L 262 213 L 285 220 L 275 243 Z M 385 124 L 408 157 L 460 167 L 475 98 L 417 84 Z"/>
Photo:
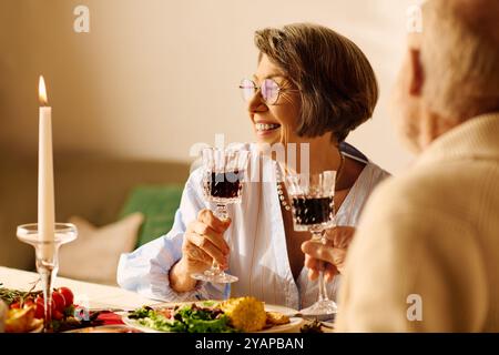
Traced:
<path id="1" fill-rule="evenodd" d="M 0 283 L 3 284 L 2 287 L 28 291 L 38 278 L 38 274 L 33 272 L 0 266 Z M 90 308 L 132 310 L 144 304 L 159 303 L 120 287 L 57 277 L 54 287 L 62 286 L 71 288 L 74 293 L 75 304 Z M 37 290 L 41 290 L 40 283 Z"/>

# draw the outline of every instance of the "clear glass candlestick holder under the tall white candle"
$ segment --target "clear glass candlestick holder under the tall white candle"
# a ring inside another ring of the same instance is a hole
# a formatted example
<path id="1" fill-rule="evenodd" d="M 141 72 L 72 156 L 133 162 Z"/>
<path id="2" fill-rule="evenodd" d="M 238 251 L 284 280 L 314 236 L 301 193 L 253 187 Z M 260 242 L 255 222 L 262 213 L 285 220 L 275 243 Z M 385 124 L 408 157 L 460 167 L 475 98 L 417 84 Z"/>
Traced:
<path id="1" fill-rule="evenodd" d="M 43 291 L 43 331 L 52 332 L 52 285 L 59 270 L 59 247 L 77 239 L 77 226 L 71 223 L 55 223 L 54 237 L 41 241 L 38 233 L 38 223 L 18 226 L 18 239 L 34 247 L 37 271 L 41 278 Z"/>

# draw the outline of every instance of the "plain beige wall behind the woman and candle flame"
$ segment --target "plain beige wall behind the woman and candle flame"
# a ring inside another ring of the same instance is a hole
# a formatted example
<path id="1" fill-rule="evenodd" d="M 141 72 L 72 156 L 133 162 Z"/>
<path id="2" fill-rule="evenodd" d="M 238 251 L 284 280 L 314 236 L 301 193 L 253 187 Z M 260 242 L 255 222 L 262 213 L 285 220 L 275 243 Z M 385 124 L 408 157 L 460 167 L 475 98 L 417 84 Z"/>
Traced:
<path id="1" fill-rule="evenodd" d="M 0 145 L 35 154 L 38 77 L 53 106 L 55 152 L 189 160 L 195 142 L 252 140 L 236 90 L 255 69 L 253 32 L 329 26 L 370 59 L 381 98 L 348 141 L 391 172 L 409 162 L 387 116 L 408 0 L 1 0 Z M 90 33 L 73 9 L 90 8 Z"/>

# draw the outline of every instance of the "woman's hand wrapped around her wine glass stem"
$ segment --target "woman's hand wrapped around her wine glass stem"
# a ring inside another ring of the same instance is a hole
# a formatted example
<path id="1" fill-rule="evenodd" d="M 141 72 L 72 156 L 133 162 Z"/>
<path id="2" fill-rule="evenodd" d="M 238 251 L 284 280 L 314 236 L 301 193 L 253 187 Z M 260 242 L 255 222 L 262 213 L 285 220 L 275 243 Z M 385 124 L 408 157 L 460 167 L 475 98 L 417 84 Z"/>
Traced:
<path id="1" fill-rule="evenodd" d="M 196 281 L 193 273 L 202 273 L 210 268 L 213 261 L 222 270 L 228 267 L 228 244 L 224 232 L 231 225 L 231 220 L 222 221 L 212 211 L 201 210 L 197 220 L 187 225 L 182 244 L 182 258 L 172 267 L 170 282 L 176 292 L 194 288 Z"/>

